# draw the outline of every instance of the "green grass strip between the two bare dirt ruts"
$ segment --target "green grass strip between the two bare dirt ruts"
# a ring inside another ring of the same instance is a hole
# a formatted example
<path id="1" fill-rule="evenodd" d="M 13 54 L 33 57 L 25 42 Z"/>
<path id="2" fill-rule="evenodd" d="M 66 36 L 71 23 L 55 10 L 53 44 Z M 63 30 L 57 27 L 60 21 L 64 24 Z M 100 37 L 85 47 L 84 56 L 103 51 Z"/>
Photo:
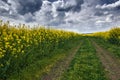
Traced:
<path id="1" fill-rule="evenodd" d="M 61 80 L 107 80 L 96 50 L 88 39 L 83 43 Z"/>

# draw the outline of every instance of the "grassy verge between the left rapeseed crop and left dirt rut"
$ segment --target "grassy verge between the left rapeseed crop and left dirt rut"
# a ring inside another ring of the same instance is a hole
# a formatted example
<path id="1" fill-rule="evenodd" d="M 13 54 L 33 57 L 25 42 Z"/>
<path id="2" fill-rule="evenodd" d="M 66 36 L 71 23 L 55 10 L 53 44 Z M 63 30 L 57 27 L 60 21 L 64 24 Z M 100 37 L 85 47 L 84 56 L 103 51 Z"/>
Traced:
<path id="1" fill-rule="evenodd" d="M 51 56 L 37 60 L 30 66 L 21 70 L 20 73 L 12 75 L 8 80 L 40 80 L 41 77 L 50 72 L 51 68 L 59 61 L 69 55 L 69 52 L 80 43 L 80 40 L 67 44 L 62 49 L 54 50 Z"/>

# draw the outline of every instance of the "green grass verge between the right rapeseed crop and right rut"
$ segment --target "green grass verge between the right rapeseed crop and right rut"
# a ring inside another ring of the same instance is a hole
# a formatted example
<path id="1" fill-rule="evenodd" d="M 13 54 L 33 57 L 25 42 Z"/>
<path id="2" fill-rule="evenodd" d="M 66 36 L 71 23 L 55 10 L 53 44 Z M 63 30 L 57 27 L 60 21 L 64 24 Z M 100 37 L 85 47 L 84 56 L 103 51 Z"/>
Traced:
<path id="1" fill-rule="evenodd" d="M 97 42 L 101 47 L 110 51 L 110 53 L 120 61 L 120 45 L 110 44 L 108 41 L 102 38 L 92 38 L 92 40 Z"/>

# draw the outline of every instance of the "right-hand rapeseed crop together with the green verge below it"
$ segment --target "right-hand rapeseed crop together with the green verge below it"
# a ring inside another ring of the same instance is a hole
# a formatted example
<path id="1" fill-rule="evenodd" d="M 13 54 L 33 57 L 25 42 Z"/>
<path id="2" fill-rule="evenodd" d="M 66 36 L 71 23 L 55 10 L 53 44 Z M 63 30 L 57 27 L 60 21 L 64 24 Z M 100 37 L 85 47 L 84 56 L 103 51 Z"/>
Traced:
<path id="1" fill-rule="evenodd" d="M 90 34 L 92 39 L 120 59 L 120 27 L 115 27 L 105 32 Z"/>

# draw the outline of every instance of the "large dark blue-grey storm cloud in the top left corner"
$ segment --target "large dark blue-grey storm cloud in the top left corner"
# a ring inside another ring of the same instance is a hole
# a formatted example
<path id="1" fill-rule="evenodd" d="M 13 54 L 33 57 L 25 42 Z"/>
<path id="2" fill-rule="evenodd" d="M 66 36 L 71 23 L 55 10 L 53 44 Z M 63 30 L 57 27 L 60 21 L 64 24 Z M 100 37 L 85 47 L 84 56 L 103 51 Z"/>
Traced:
<path id="1" fill-rule="evenodd" d="M 34 13 L 40 10 L 42 5 L 41 0 L 2 0 L 0 2 L 4 3 L 4 5 L 8 5 L 9 10 L 14 8 L 14 11 L 20 15 Z M 2 12 L 3 11 L 5 12 L 5 10 L 2 10 Z"/>

